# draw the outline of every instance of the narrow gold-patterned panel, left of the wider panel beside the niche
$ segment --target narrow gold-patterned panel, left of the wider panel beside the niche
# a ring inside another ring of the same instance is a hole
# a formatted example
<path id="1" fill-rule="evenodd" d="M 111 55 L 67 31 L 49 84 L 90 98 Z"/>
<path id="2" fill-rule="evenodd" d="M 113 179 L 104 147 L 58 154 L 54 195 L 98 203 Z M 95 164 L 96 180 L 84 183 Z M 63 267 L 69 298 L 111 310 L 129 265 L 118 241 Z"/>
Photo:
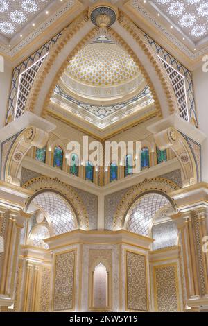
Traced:
<path id="1" fill-rule="evenodd" d="M 51 284 L 51 268 L 44 266 L 42 268 L 40 301 L 39 301 L 39 311 L 41 312 L 49 311 L 50 284 Z"/>

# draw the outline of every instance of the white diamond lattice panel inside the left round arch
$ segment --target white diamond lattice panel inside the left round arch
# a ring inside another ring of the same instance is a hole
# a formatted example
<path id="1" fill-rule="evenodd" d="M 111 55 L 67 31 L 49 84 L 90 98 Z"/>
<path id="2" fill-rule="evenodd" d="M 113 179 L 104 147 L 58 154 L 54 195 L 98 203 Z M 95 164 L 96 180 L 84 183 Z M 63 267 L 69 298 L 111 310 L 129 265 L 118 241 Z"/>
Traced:
<path id="1" fill-rule="evenodd" d="M 55 235 L 74 230 L 75 217 L 71 207 L 57 194 L 44 192 L 33 199 L 33 203 L 44 209 L 47 213 Z"/>

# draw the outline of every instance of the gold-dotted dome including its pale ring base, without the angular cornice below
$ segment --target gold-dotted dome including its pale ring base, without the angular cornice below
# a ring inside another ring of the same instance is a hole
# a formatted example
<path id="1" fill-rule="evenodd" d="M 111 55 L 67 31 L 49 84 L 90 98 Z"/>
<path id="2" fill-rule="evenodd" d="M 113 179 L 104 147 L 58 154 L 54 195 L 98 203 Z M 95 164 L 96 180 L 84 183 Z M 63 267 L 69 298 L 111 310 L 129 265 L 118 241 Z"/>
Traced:
<path id="1" fill-rule="evenodd" d="M 59 86 L 85 103 L 121 103 L 144 89 L 134 58 L 106 35 L 100 35 L 71 58 Z"/>

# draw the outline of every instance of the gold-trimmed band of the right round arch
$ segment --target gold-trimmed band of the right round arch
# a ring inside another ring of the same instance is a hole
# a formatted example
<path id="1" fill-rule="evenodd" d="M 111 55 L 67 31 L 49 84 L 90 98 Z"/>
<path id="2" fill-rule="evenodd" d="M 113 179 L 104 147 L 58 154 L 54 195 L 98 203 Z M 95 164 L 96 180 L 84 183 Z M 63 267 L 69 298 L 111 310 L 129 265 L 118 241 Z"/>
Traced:
<path id="1" fill-rule="evenodd" d="M 175 182 L 168 180 L 166 178 L 153 178 L 145 179 L 143 182 L 131 187 L 121 198 L 121 201 L 116 209 L 116 212 L 113 217 L 113 230 L 118 230 L 123 228 L 123 223 L 125 216 L 128 214 L 128 210 L 135 203 L 140 196 L 148 194 L 149 192 L 159 192 L 166 196 L 170 200 L 172 207 L 175 207 L 176 212 L 176 203 L 175 201 L 168 196 L 168 193 L 180 189 Z"/>

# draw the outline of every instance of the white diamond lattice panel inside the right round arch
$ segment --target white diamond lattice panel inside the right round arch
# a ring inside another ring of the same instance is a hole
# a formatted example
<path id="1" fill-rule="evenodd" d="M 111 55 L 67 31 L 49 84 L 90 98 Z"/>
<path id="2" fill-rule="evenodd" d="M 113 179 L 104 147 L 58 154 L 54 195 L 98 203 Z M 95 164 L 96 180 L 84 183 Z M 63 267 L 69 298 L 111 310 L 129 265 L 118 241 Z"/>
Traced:
<path id="1" fill-rule="evenodd" d="M 168 199 L 160 194 L 148 194 L 132 207 L 126 229 L 130 232 L 149 235 L 155 213 L 165 205 L 171 205 Z"/>

